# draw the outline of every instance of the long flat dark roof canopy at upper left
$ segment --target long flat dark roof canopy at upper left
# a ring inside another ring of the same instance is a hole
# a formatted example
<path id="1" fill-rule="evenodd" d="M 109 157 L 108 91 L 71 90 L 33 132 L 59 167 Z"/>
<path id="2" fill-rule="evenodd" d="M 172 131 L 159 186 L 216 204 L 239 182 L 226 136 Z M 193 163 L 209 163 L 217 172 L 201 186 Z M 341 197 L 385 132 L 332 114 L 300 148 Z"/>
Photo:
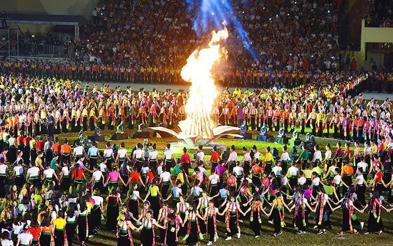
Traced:
<path id="1" fill-rule="evenodd" d="M 48 15 L 7 13 L 7 23 L 81 26 L 87 22 L 82 15 Z"/>

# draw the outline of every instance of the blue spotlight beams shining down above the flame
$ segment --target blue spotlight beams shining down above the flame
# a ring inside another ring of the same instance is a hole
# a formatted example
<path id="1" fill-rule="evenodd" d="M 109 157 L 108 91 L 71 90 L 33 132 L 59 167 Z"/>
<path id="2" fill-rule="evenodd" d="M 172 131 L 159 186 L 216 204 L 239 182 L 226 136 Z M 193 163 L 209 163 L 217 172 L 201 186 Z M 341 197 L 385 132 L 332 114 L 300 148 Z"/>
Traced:
<path id="1" fill-rule="evenodd" d="M 186 3 L 189 11 L 195 11 L 193 30 L 196 31 L 198 36 L 208 31 L 209 27 L 213 26 L 215 29 L 221 28 L 221 23 L 225 21 L 226 25 L 232 25 L 234 27 L 244 47 L 250 52 L 253 59 L 257 61 L 252 48 L 252 42 L 248 37 L 247 31 L 236 18 L 230 0 L 186 0 Z M 248 0 L 243 0 L 243 3 L 248 5 Z M 199 9 L 193 9 L 196 6 Z"/>

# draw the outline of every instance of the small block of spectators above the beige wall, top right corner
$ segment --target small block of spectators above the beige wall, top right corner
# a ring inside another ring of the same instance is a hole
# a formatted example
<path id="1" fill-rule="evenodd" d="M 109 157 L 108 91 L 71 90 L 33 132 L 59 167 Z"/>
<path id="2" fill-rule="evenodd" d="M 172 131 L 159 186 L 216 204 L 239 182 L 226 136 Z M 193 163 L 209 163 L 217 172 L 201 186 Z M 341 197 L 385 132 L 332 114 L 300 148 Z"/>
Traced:
<path id="1" fill-rule="evenodd" d="M 393 1 L 368 0 L 365 13 L 365 26 L 391 28 L 393 26 Z"/>

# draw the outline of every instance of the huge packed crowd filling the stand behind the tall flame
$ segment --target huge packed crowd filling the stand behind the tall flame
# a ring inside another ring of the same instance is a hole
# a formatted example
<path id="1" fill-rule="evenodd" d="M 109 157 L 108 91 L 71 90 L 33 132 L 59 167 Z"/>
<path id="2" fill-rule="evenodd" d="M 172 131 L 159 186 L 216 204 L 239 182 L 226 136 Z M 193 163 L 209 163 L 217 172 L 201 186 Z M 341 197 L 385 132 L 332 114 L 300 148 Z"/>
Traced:
<path id="1" fill-rule="evenodd" d="M 225 47 L 228 61 L 216 72 L 245 80 L 273 71 L 348 70 L 352 59 L 340 53 L 337 0 L 261 0 L 233 2 L 233 10 L 252 40 L 253 59 L 233 27 Z M 100 0 L 90 25 L 81 28 L 80 62 L 132 66 L 135 70 L 163 67 L 180 71 L 187 57 L 208 34 L 192 30 L 195 13 L 185 1 Z M 88 59 L 87 59 L 88 56 Z M 356 67 L 355 67 L 356 69 Z"/>

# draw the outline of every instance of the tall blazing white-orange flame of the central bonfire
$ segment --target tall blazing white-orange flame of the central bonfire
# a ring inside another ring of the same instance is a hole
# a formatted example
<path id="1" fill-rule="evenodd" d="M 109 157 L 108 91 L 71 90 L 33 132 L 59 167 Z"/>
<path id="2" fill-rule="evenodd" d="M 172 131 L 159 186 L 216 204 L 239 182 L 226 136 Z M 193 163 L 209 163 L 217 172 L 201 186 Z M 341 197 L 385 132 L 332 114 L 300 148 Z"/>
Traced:
<path id="1" fill-rule="evenodd" d="M 179 122 L 183 135 L 213 137 L 216 123 L 211 119 L 211 112 L 218 91 L 211 70 L 213 65 L 226 55 L 225 48 L 221 48 L 218 42 L 227 37 L 226 27 L 221 31 L 212 31 L 212 39 L 208 47 L 196 49 L 181 70 L 181 77 L 191 82 L 189 98 L 185 106 L 187 118 Z"/>

